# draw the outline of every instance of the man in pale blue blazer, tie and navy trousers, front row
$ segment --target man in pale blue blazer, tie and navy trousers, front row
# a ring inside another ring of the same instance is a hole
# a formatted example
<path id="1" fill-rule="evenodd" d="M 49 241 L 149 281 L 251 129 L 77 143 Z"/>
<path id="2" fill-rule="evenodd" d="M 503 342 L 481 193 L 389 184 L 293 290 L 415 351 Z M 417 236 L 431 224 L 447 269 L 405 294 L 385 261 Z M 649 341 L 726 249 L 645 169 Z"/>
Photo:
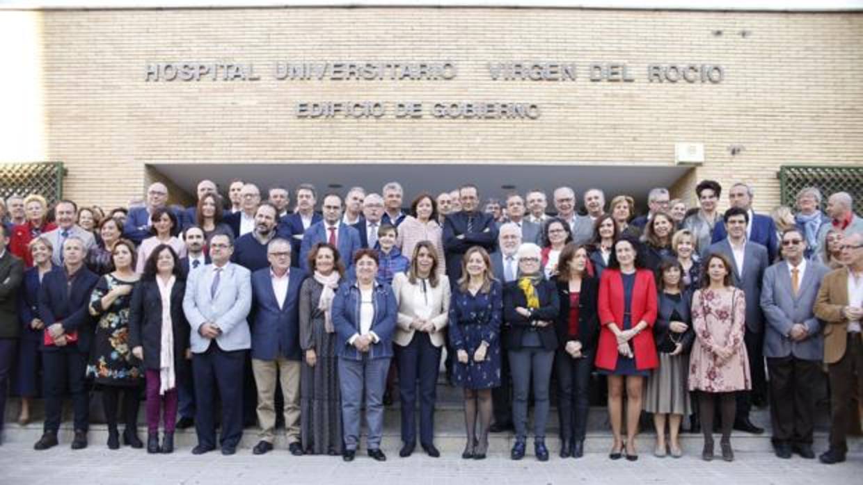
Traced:
<path id="1" fill-rule="evenodd" d="M 234 241 L 230 234 L 210 238 L 210 258 L 203 270 L 192 271 L 186 282 L 183 312 L 192 327 L 192 373 L 195 381 L 195 455 L 216 449 L 213 420 L 214 388 L 222 401 L 222 454 L 233 455 L 243 438 L 243 364 L 251 346 L 249 309 L 251 273 L 230 262 Z"/>

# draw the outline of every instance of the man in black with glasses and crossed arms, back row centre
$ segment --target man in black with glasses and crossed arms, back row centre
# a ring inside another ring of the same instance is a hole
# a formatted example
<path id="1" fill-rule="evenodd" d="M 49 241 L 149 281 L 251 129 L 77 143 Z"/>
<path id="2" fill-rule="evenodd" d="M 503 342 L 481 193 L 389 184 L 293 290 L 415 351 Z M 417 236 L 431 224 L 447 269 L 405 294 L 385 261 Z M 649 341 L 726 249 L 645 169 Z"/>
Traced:
<path id="1" fill-rule="evenodd" d="M 462 210 L 444 220 L 444 252 L 446 274 L 455 286 L 462 277 L 462 258 L 473 246 L 482 246 L 489 254 L 497 247 L 497 226 L 494 217 L 479 210 L 480 196 L 476 185 L 463 185 L 458 190 Z"/>

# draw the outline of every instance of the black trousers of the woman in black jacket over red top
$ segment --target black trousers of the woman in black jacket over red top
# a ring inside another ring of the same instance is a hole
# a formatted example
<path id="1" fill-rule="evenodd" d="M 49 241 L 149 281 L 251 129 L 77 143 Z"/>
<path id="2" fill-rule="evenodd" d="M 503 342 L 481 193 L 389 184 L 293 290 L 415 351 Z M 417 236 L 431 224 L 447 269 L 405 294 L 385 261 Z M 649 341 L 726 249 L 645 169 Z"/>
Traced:
<path id="1" fill-rule="evenodd" d="M 594 352 L 581 358 L 571 358 L 566 351 L 557 351 L 557 414 L 562 441 L 584 441 L 590 410 L 590 370 Z"/>

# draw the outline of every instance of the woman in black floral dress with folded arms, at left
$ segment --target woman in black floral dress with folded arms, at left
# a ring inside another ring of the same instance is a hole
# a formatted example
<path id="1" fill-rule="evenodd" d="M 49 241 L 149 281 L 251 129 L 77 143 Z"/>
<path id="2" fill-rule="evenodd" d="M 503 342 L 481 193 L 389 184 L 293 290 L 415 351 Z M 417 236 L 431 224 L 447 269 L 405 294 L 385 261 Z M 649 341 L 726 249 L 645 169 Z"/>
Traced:
<path id="1" fill-rule="evenodd" d="M 102 391 L 105 420 L 108 422 L 108 447 L 120 447 L 117 432 L 117 407 L 123 394 L 126 429 L 123 443 L 142 448 L 137 436 L 138 406 L 143 380 L 141 363 L 129 349 L 129 301 L 138 281 L 135 274 L 135 245 L 120 239 L 114 245 L 115 270 L 96 284 L 90 297 L 90 314 L 98 317 L 87 376 Z"/>

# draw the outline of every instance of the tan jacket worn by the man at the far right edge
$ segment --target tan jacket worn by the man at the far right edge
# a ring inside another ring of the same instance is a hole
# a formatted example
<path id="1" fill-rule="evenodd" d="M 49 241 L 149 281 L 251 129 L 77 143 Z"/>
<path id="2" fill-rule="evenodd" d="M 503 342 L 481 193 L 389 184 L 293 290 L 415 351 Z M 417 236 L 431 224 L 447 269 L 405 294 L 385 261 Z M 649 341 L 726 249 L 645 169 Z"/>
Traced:
<path id="1" fill-rule="evenodd" d="M 845 355 L 848 320 L 842 309 L 848 304 L 848 270 L 830 271 L 821 283 L 815 316 L 824 320 L 824 363 L 835 364 Z M 860 337 L 863 339 L 863 336 Z"/>

